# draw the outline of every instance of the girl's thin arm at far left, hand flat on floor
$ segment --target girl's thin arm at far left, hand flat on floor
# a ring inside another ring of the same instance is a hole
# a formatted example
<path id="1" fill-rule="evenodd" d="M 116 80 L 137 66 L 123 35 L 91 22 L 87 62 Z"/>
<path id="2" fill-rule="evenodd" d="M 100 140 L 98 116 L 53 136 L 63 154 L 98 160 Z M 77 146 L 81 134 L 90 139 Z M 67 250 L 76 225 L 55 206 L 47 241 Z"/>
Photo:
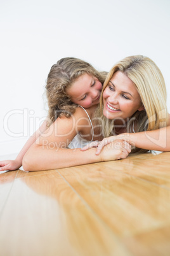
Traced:
<path id="1" fill-rule="evenodd" d="M 20 153 L 18 153 L 15 160 L 0 161 L 0 166 L 1 166 L 0 171 L 6 171 L 6 170 L 13 171 L 13 170 L 19 169 L 22 166 L 23 155 L 25 155 L 27 150 L 36 141 L 36 139 L 40 136 L 40 134 L 42 132 L 46 131 L 46 129 L 47 129 L 46 124 L 47 124 L 47 121 L 45 120 L 42 123 L 41 127 L 39 127 L 39 129 L 37 129 L 37 131 L 34 132 L 34 134 L 32 134 L 32 136 L 30 136 L 30 138 L 27 140 L 27 142 L 23 146 Z"/>

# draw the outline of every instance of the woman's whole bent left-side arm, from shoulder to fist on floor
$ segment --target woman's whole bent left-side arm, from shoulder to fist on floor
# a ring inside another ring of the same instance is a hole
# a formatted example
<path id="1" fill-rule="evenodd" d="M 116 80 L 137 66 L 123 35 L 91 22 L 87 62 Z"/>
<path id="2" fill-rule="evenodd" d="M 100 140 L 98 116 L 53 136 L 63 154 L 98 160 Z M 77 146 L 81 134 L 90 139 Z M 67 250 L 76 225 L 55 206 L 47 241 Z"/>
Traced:
<path id="1" fill-rule="evenodd" d="M 111 143 L 110 146 L 103 148 L 98 156 L 94 148 L 87 152 L 82 152 L 80 148 L 67 148 L 77 132 L 83 133 L 87 128 L 87 118 L 86 120 L 83 118 L 84 113 L 84 110 L 77 108 L 73 117 L 58 118 L 57 122 L 55 121 L 44 134 L 41 134 L 36 143 L 25 153 L 23 169 L 41 171 L 127 157 L 131 149 L 130 146 L 126 149 L 122 141 Z"/>

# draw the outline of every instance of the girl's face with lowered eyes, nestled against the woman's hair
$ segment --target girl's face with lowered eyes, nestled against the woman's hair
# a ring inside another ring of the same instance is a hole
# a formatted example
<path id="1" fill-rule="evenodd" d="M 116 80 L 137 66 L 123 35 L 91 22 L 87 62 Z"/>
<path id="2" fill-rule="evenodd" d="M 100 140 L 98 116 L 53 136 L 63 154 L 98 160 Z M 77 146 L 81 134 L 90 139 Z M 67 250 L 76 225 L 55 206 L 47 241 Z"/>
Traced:
<path id="1" fill-rule="evenodd" d="M 72 102 L 89 108 L 99 103 L 101 89 L 102 84 L 97 78 L 84 74 L 72 83 L 67 94 L 71 97 Z"/>

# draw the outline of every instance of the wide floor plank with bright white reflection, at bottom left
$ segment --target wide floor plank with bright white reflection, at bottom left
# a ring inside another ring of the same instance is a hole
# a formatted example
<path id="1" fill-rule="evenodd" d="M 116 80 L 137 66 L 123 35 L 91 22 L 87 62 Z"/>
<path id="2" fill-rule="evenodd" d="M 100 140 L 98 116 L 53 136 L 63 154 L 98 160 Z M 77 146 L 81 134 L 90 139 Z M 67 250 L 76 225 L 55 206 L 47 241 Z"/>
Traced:
<path id="1" fill-rule="evenodd" d="M 1 255 L 131 255 L 56 171 L 15 180 L 0 227 Z"/>

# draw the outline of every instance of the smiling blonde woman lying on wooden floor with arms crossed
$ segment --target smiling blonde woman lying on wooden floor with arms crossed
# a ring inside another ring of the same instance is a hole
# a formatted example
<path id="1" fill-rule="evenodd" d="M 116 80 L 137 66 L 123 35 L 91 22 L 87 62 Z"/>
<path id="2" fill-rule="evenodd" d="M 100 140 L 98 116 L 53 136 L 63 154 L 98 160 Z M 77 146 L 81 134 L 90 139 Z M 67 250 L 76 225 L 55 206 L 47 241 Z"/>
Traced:
<path id="1" fill-rule="evenodd" d="M 95 108 L 88 109 L 89 117 L 94 117 Z M 110 142 L 104 146 L 100 155 L 95 155 L 95 148 L 82 152 L 68 149 L 70 141 L 81 134 L 81 138 L 92 140 L 90 125 L 84 127 L 84 110 L 76 108 L 72 118 L 61 117 L 53 122 L 48 131 L 41 134 L 39 141 L 34 143 L 23 157 L 23 168 L 27 171 L 56 169 L 61 167 L 76 166 L 106 160 L 115 160 L 128 155 L 129 148 L 124 149 L 120 142 Z M 85 116 L 84 116 L 85 117 Z M 166 87 L 159 68 L 148 57 L 141 55 L 127 57 L 117 63 L 110 71 L 104 83 L 101 97 L 101 113 L 96 113 L 105 136 L 121 134 L 122 132 L 138 132 L 138 145 L 140 148 L 168 151 L 169 137 L 166 127 L 169 117 L 166 108 Z M 99 119 L 100 118 L 100 119 Z M 93 127 L 93 126 L 92 126 Z M 154 131 L 151 131 L 154 130 Z M 167 127 L 169 132 L 169 127 Z M 152 132 L 153 138 L 160 131 L 164 134 L 167 146 L 153 143 L 143 132 Z M 96 132 L 96 138 L 100 132 Z M 85 136 L 85 137 L 84 137 Z M 117 136 L 119 138 L 119 136 Z M 64 143 L 61 146 L 61 143 Z M 132 144 L 132 143 L 131 143 Z M 119 149 L 117 150 L 117 145 Z M 136 143 L 136 146 L 138 146 Z M 127 145 L 126 145 L 127 146 Z M 138 150 L 138 149 L 136 149 Z M 119 153 L 118 153 L 119 152 Z"/>

